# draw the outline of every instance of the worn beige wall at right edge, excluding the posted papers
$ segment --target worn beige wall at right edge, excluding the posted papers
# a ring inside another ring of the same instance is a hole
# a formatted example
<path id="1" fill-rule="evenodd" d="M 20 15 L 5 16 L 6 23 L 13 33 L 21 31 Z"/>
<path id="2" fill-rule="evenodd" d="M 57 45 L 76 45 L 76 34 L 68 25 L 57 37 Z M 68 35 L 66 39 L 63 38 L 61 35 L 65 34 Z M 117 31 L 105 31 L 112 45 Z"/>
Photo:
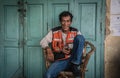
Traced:
<path id="1" fill-rule="evenodd" d="M 105 78 L 120 78 L 120 36 L 110 34 L 110 0 L 106 0 Z"/>

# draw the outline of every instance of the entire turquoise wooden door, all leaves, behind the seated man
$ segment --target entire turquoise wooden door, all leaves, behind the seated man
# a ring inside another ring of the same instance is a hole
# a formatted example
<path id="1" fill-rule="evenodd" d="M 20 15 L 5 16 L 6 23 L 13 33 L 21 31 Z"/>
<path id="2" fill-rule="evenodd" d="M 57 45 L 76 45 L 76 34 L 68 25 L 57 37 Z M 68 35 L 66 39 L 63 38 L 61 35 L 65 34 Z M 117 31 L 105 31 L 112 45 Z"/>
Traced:
<path id="1" fill-rule="evenodd" d="M 103 77 L 103 0 L 21 0 L 26 10 L 18 12 L 17 0 L 0 3 L 0 78 L 43 78 L 44 59 L 39 41 L 55 26 L 64 10 L 73 13 L 72 26 L 96 46 L 88 64 L 86 78 Z M 88 47 L 89 49 L 89 47 Z"/>

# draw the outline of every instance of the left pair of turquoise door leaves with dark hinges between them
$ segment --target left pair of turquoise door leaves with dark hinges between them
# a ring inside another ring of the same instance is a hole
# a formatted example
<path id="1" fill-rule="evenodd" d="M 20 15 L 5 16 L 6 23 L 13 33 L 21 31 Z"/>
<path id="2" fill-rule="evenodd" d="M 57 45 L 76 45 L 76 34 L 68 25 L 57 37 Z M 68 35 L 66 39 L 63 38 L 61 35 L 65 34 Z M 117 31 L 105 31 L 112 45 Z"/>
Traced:
<path id="1" fill-rule="evenodd" d="M 46 4 L 45 0 L 1 1 L 0 78 L 43 77 L 39 41 L 47 29 Z"/>

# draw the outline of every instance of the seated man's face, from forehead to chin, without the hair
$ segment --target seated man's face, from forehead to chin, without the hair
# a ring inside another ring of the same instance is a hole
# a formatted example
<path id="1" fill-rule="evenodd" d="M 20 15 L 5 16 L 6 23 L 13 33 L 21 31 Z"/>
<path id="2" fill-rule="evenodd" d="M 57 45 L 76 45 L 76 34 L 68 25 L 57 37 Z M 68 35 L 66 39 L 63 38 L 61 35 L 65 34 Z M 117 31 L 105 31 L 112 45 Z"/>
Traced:
<path id="1" fill-rule="evenodd" d="M 62 25 L 63 31 L 68 31 L 71 23 L 72 21 L 70 16 L 62 17 L 61 25 Z"/>

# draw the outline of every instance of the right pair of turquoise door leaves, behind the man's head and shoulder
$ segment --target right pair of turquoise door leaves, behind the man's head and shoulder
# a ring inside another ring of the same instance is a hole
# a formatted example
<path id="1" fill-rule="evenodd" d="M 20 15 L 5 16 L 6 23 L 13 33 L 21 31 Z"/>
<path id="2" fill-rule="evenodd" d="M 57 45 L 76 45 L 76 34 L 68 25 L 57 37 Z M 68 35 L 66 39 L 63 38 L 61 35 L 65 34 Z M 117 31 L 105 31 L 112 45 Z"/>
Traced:
<path id="1" fill-rule="evenodd" d="M 68 10 L 74 15 L 72 26 L 78 28 L 85 39 L 96 47 L 87 67 L 86 78 L 103 78 L 102 7 L 102 0 L 48 0 L 48 30 L 60 25 L 59 13 Z"/>

